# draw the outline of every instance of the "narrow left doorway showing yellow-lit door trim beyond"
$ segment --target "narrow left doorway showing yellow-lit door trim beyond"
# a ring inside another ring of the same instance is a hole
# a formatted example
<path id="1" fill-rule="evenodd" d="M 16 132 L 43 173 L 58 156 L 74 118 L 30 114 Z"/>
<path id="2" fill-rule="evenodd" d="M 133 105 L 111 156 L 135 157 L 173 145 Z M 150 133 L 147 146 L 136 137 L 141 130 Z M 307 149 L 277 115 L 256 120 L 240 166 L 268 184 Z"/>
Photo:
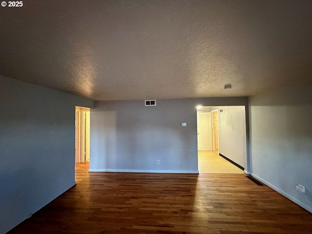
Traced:
<path id="1" fill-rule="evenodd" d="M 75 162 L 90 161 L 90 108 L 76 106 Z"/>

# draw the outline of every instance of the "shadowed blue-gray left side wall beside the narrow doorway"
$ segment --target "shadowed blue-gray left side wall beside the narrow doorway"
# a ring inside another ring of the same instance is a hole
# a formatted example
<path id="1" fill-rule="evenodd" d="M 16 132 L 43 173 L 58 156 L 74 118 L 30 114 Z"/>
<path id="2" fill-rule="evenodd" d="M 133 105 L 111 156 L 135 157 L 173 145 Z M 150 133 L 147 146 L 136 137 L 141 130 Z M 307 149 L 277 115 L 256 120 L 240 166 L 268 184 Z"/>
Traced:
<path id="1" fill-rule="evenodd" d="M 93 101 L 0 76 L 0 234 L 75 185 L 75 105 Z"/>

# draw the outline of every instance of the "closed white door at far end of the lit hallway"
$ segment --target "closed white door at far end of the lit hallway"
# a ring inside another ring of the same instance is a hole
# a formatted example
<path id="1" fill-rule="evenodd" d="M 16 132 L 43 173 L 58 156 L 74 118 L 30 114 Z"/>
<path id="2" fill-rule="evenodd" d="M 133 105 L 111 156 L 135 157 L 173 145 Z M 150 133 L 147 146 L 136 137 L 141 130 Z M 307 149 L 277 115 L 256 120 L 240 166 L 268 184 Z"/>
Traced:
<path id="1" fill-rule="evenodd" d="M 198 151 L 212 151 L 212 119 L 210 112 L 197 113 Z"/>

